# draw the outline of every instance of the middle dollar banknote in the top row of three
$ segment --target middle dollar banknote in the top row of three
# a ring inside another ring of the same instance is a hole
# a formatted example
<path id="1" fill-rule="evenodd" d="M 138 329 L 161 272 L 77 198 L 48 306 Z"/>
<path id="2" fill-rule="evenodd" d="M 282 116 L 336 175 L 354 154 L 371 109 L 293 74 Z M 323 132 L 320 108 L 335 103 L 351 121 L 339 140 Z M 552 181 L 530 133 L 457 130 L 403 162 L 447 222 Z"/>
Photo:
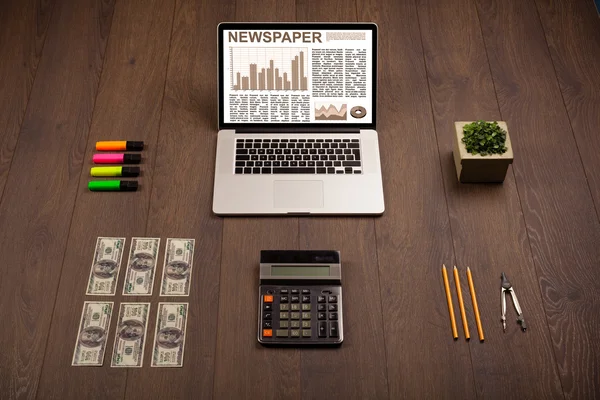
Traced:
<path id="1" fill-rule="evenodd" d="M 151 295 L 160 238 L 133 238 L 125 272 L 124 295 Z"/>

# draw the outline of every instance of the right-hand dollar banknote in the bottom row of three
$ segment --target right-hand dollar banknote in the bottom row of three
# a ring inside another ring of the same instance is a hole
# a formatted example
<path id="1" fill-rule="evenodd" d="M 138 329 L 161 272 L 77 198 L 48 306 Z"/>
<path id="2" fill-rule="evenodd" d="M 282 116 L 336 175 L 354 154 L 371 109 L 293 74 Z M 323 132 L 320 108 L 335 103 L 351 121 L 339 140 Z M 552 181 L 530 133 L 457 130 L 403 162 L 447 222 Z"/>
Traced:
<path id="1" fill-rule="evenodd" d="M 188 303 L 158 303 L 153 367 L 183 366 Z"/>

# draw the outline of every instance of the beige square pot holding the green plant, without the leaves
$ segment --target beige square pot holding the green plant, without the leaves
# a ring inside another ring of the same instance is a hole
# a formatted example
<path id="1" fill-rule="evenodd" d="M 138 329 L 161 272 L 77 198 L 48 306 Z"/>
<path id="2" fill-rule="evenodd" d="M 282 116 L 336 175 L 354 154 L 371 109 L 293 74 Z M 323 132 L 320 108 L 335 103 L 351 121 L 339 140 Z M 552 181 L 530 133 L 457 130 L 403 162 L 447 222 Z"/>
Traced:
<path id="1" fill-rule="evenodd" d="M 504 182 L 508 166 L 513 162 L 513 150 L 508 135 L 506 122 L 497 121 L 506 131 L 506 152 L 504 154 L 471 154 L 467 152 L 462 142 L 463 127 L 474 121 L 458 121 L 454 123 L 456 135 L 454 138 L 454 165 L 456 175 L 461 183 L 501 183 Z"/>

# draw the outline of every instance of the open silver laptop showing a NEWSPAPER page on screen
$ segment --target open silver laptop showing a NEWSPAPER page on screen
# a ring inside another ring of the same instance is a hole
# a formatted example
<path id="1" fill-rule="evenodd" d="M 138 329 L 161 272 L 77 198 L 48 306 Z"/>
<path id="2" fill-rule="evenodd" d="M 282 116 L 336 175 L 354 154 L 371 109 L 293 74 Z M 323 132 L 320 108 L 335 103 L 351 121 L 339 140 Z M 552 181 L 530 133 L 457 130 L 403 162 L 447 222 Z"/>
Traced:
<path id="1" fill-rule="evenodd" d="M 221 23 L 217 215 L 379 215 L 377 26 Z"/>

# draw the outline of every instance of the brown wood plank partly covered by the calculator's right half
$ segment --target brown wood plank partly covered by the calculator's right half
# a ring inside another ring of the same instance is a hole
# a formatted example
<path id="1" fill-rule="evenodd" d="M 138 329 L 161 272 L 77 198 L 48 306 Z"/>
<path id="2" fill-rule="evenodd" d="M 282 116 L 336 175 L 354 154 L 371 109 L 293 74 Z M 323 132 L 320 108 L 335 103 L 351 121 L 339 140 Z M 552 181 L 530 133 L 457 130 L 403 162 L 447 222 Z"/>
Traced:
<path id="1" fill-rule="evenodd" d="M 357 21 L 354 1 L 298 4 L 299 21 Z M 303 398 L 388 397 L 373 218 L 301 218 L 300 248 L 339 250 L 344 343 L 302 352 Z M 360 243 L 360 244 L 359 244 Z"/>

